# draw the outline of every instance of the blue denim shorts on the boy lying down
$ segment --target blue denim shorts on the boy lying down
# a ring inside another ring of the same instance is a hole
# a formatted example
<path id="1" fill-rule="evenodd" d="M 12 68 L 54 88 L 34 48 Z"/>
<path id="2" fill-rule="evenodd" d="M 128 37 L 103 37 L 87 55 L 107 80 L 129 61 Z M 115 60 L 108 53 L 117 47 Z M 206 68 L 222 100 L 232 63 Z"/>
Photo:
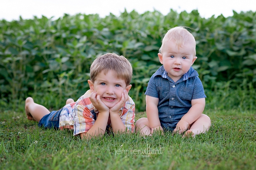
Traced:
<path id="1" fill-rule="evenodd" d="M 62 108 L 63 109 L 63 108 Z M 38 123 L 39 127 L 42 128 L 54 128 L 59 129 L 60 126 L 60 112 L 62 109 L 58 111 L 52 111 L 48 115 L 45 115 Z"/>

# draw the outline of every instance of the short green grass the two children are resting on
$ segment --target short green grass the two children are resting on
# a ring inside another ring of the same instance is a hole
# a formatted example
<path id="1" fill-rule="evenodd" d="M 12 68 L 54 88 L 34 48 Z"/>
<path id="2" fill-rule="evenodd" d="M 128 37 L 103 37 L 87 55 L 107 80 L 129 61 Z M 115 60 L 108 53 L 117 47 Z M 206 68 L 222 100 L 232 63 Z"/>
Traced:
<path id="1" fill-rule="evenodd" d="M 256 169 L 255 110 L 205 110 L 212 127 L 196 138 L 167 132 L 89 141 L 69 130 L 40 129 L 23 108 L 16 110 L 0 114 L 0 169 Z M 149 147 L 149 155 L 136 152 Z"/>

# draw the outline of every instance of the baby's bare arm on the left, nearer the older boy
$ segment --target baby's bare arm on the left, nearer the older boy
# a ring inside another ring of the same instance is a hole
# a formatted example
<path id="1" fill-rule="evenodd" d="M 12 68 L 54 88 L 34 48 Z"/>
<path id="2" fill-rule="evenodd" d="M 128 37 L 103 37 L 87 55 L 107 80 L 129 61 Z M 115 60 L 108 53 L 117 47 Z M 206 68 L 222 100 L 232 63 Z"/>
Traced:
<path id="1" fill-rule="evenodd" d="M 163 130 L 160 124 L 160 120 L 158 117 L 158 98 L 151 97 L 146 95 L 146 113 L 147 113 L 147 118 L 148 122 L 151 128 L 151 133 L 154 132 L 154 130 Z"/>

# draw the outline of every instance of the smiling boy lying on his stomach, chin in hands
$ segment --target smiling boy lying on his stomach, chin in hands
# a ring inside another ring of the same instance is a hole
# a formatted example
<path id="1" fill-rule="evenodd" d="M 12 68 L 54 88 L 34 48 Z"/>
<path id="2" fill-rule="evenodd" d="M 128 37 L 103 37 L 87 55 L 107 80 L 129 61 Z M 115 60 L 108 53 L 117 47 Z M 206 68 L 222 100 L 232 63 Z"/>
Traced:
<path id="1" fill-rule="evenodd" d="M 103 135 L 106 130 L 133 132 L 135 104 L 128 96 L 131 79 L 132 66 L 124 56 L 101 55 L 90 68 L 90 90 L 76 102 L 68 99 L 62 109 L 50 112 L 29 97 L 25 103 L 27 117 L 40 127 L 74 129 L 74 135 L 82 139 Z"/>

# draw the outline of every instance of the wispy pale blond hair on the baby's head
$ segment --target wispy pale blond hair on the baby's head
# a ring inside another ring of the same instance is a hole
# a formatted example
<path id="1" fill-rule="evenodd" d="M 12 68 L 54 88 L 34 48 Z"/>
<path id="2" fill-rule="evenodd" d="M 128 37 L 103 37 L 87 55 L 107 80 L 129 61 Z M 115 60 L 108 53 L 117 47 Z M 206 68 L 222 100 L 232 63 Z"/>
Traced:
<path id="1" fill-rule="evenodd" d="M 196 40 L 195 37 L 186 29 L 185 26 L 176 26 L 171 28 L 167 33 L 164 35 L 162 46 L 159 49 L 159 53 L 161 53 L 161 49 L 163 48 L 164 44 L 170 40 L 173 40 L 178 49 L 182 48 L 186 42 L 190 42 L 191 45 L 195 46 L 195 56 L 196 56 Z"/>

